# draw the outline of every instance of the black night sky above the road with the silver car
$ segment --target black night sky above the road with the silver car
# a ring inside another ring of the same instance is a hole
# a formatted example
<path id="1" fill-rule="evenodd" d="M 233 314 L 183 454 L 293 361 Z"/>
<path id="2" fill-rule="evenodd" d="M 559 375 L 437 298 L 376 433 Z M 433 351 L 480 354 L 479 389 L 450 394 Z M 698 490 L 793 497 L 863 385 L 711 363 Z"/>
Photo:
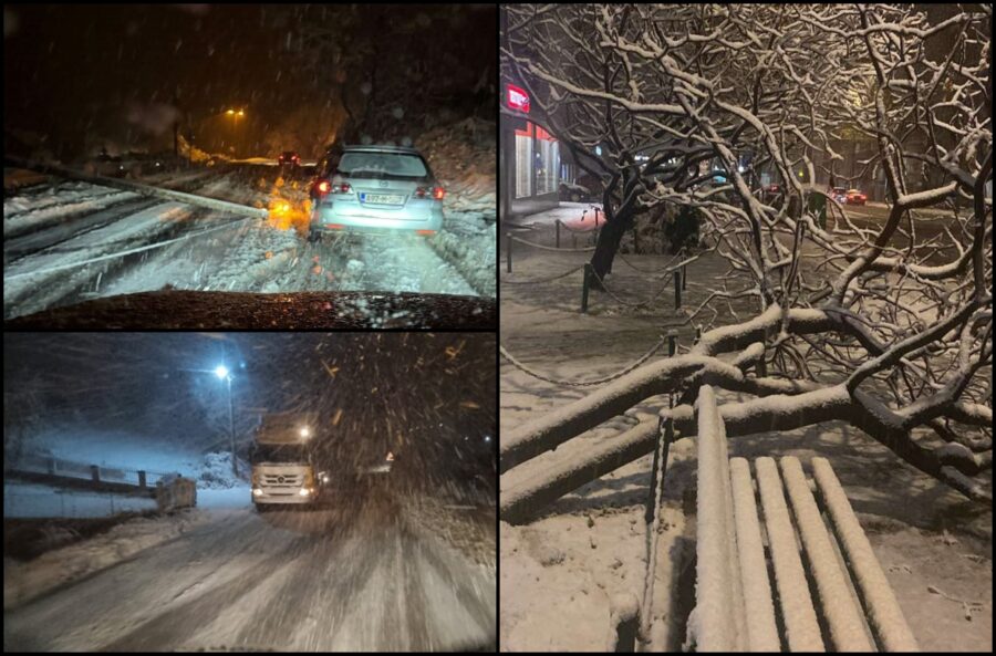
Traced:
<path id="1" fill-rule="evenodd" d="M 445 51 L 449 59 L 432 65 L 449 95 L 469 92 L 481 66 L 496 69 L 494 6 L 356 7 L 360 18 L 342 39 L 354 39 L 357 50 L 382 49 L 381 58 L 405 56 L 413 69 L 419 58 Z M 335 11 L 307 4 L 4 6 L 4 128 L 45 136 L 53 153 L 73 157 L 93 149 L 95 135 L 136 148 L 172 147 L 174 110 L 205 142 L 230 127 L 220 112 L 246 106 L 245 136 L 257 139 L 247 142 L 251 146 L 291 108 L 339 102 L 305 70 L 301 41 L 305 28 L 317 27 L 339 38 Z M 414 32 L 407 52 L 392 52 L 398 37 L 385 24 Z M 383 71 L 378 76 L 385 80 Z"/>

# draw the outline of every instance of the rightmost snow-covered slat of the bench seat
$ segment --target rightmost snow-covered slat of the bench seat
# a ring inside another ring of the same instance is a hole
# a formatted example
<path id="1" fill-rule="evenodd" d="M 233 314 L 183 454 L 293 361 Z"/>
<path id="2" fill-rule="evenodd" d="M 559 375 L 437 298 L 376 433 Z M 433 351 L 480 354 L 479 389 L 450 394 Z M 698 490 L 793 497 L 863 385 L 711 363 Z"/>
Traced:
<path id="1" fill-rule="evenodd" d="M 886 652 L 919 652 L 920 646 L 900 608 L 892 586 L 872 551 L 868 537 L 826 458 L 812 459 L 812 475 L 822 496 L 841 550 L 864 598 L 872 629 Z"/>

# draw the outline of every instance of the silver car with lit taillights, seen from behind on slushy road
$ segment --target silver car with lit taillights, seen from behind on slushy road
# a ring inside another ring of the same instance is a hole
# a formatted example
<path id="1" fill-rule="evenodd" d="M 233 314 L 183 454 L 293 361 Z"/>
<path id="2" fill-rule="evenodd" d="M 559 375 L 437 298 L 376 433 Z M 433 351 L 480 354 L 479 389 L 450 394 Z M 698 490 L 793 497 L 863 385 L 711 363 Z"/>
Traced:
<path id="1" fill-rule="evenodd" d="M 415 148 L 346 146 L 338 165 L 312 183 L 309 236 L 415 232 L 443 227 L 445 191 Z"/>

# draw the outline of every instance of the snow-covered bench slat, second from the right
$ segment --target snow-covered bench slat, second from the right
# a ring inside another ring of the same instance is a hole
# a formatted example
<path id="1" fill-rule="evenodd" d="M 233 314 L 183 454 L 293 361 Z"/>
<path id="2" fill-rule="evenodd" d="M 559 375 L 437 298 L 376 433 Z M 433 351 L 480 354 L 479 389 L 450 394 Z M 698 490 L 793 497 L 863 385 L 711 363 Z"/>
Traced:
<path id="1" fill-rule="evenodd" d="M 820 595 L 820 606 L 830 628 L 833 648 L 838 652 L 874 650 L 860 602 L 848 584 L 847 571 L 830 542 L 827 524 L 820 517 L 799 459 L 781 458 L 781 476 L 796 513 L 796 525 Z"/>

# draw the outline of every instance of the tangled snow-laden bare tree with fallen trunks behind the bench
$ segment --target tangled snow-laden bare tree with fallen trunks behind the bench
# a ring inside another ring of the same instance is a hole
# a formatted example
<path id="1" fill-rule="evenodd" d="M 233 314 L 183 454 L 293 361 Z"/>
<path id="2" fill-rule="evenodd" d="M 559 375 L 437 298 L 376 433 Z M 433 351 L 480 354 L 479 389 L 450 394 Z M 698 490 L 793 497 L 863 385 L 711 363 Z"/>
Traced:
<path id="1" fill-rule="evenodd" d="M 665 392 L 682 403 L 662 417 L 694 434 L 691 404 L 708 383 L 757 397 L 722 408 L 730 436 L 840 419 L 992 499 L 990 9 L 507 11 L 502 64 L 604 180 L 596 274 L 633 219 L 665 204 L 698 209 L 728 272 L 693 314 L 706 332 L 691 352 L 502 436 L 502 471 Z M 813 184 L 843 160 L 832 146 L 845 133 L 874 143 L 861 165 L 884 175 L 882 222 L 855 223 Z M 784 181 L 781 202 L 761 171 Z M 753 298 L 754 315 L 708 330 L 734 298 Z M 502 490 L 502 508 L 642 456 L 656 433 L 637 427 L 538 487 Z"/>

